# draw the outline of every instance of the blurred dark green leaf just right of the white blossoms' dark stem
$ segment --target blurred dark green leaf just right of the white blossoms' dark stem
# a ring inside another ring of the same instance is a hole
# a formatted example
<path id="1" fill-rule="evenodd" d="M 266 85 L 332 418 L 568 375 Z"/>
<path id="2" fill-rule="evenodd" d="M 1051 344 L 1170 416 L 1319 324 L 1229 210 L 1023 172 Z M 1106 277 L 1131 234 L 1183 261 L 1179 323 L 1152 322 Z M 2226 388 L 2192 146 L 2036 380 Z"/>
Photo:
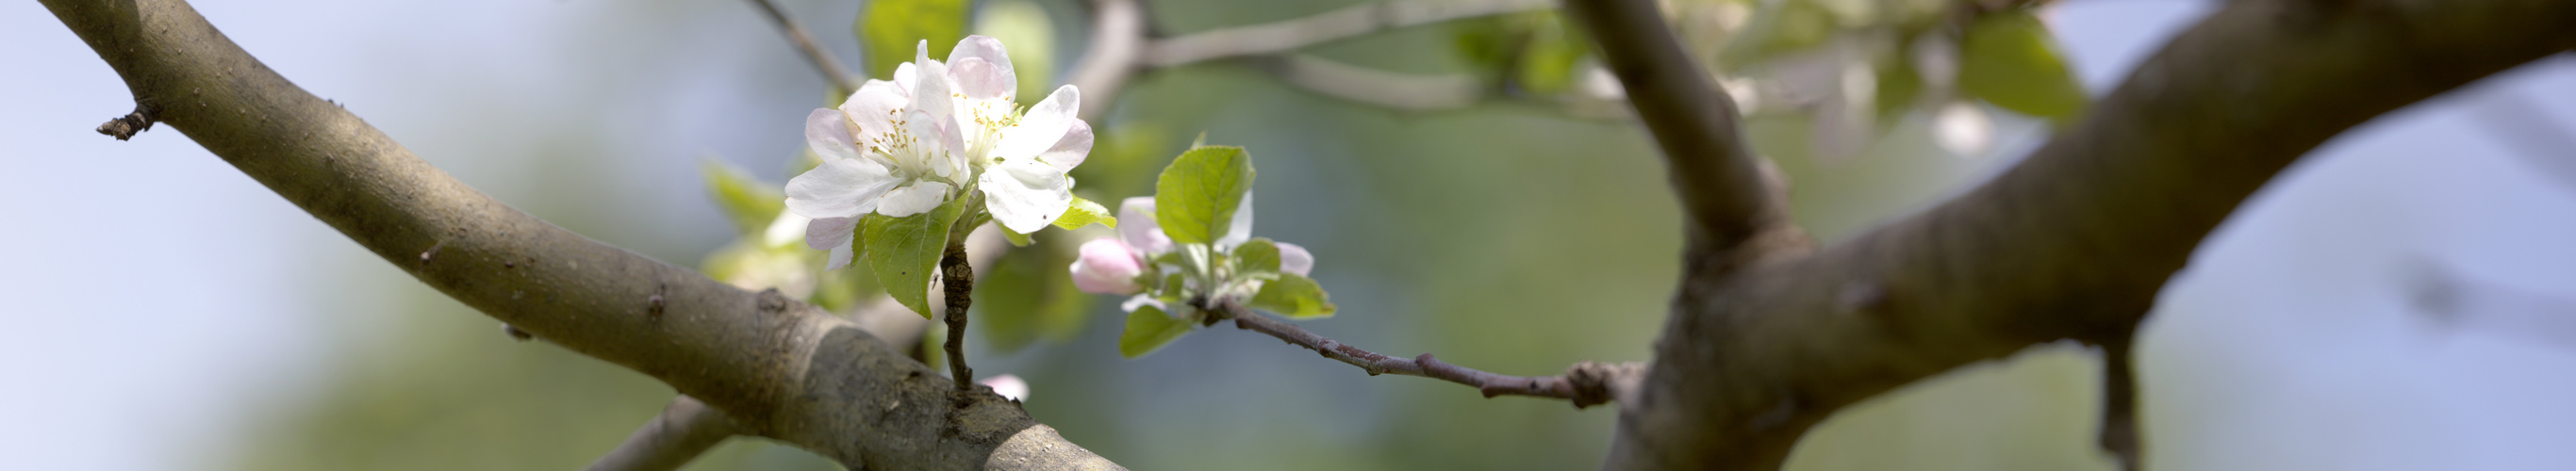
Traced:
<path id="1" fill-rule="evenodd" d="M 1092 296 L 1074 288 L 1069 252 L 1048 247 L 1010 250 L 976 273 L 974 324 L 994 350 L 1012 353 L 1036 340 L 1064 342 L 1082 332 Z"/>

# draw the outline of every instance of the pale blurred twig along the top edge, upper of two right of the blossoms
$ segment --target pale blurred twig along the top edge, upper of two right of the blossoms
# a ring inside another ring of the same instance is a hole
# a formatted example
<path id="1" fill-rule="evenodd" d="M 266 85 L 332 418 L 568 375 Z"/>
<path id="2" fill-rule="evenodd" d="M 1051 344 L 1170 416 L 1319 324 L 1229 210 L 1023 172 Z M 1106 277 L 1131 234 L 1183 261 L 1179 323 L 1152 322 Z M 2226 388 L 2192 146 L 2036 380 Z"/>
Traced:
<path id="1" fill-rule="evenodd" d="M 1391 0 L 1363 3 L 1293 21 L 1182 33 L 1146 44 L 1146 67 L 1296 51 L 1404 26 L 1553 8 L 1548 0 Z"/>

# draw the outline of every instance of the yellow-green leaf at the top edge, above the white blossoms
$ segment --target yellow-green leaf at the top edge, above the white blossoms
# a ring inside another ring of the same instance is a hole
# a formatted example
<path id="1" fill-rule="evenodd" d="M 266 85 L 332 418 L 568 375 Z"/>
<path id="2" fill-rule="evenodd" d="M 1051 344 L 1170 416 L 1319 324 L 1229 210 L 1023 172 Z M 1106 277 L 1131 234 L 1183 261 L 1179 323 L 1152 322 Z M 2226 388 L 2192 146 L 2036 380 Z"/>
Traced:
<path id="1" fill-rule="evenodd" d="M 930 59 L 948 59 L 966 39 L 966 0 L 873 0 L 858 15 L 858 41 L 868 49 L 868 77 L 894 77 L 912 49 L 930 41 Z"/>

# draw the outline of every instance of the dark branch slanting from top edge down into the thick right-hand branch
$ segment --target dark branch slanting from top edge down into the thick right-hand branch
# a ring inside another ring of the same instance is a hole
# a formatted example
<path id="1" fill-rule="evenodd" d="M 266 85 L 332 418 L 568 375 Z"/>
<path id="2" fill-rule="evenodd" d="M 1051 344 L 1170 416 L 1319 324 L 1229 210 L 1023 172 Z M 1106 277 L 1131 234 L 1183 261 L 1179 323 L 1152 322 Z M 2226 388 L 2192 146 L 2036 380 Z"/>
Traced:
<path id="1" fill-rule="evenodd" d="M 1744 142 L 1736 103 L 1682 51 L 1654 0 L 1566 0 L 1602 62 L 1628 90 L 1628 106 L 1664 149 L 1682 196 L 1690 273 L 1731 273 L 1762 257 L 1806 252 L 1788 203 L 1765 183 Z M 1713 257 L 1710 257 L 1713 255 Z"/>

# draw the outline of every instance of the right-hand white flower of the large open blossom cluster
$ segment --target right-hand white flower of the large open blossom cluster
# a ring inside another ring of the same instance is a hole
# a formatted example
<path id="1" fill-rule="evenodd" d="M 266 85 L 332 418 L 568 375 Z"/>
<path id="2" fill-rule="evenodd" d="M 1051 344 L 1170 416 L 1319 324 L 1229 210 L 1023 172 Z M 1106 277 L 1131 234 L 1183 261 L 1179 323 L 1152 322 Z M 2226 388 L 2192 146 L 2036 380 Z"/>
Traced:
<path id="1" fill-rule="evenodd" d="M 927 41 L 914 62 L 930 62 Z M 989 36 L 966 36 L 948 51 L 948 80 L 956 82 L 956 121 L 966 162 L 981 170 L 976 188 L 984 208 L 1010 232 L 1030 234 L 1064 216 L 1074 203 L 1066 170 L 1092 154 L 1092 126 L 1077 118 L 1082 90 L 1056 88 L 1028 113 L 1015 108 L 1020 90 L 1010 51 Z"/>

